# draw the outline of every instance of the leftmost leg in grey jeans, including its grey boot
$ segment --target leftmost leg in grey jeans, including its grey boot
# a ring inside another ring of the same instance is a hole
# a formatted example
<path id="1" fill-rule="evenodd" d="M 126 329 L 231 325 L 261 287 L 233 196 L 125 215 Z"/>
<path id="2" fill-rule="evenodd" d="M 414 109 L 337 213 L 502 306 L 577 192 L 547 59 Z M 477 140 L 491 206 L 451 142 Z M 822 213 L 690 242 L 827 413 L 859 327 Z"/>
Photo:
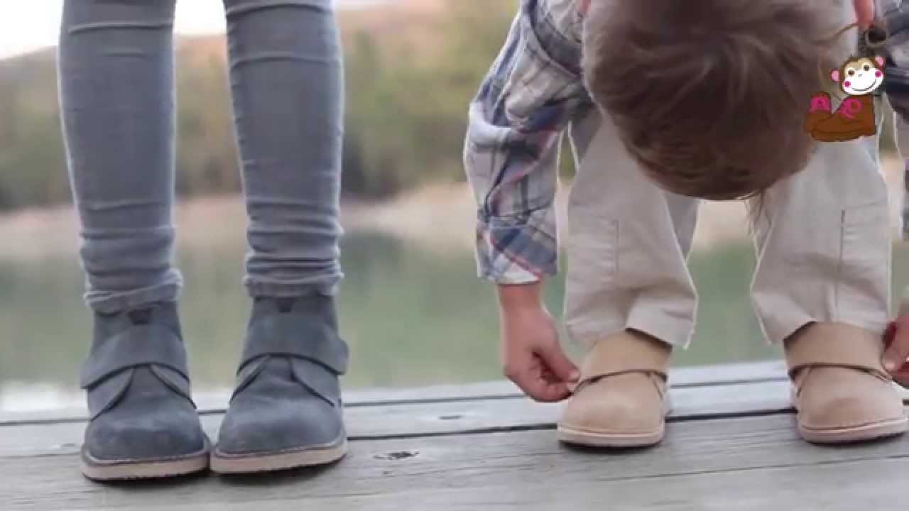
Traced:
<path id="1" fill-rule="evenodd" d="M 64 4 L 60 101 L 95 314 L 82 468 L 98 479 L 207 466 L 171 266 L 173 18 L 173 0 Z"/>

